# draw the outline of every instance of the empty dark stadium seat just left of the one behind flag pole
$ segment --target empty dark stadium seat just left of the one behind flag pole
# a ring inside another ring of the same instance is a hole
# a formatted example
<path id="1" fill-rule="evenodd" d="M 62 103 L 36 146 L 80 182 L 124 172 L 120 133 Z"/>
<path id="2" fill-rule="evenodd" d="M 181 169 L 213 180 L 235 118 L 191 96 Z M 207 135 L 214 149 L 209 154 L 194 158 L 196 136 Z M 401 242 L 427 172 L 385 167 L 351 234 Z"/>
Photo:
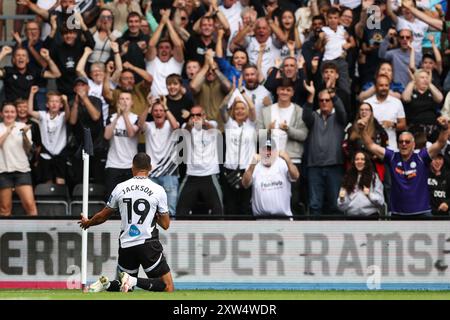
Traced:
<path id="1" fill-rule="evenodd" d="M 34 189 L 40 216 L 69 215 L 69 189 L 66 185 L 41 183 Z"/>

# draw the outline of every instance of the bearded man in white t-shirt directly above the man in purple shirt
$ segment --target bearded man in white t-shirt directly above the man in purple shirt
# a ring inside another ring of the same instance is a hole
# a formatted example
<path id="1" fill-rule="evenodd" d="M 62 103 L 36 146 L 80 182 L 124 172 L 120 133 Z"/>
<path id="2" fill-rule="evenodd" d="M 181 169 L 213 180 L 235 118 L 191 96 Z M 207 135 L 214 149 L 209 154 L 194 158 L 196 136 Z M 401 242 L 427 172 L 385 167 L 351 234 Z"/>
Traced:
<path id="1" fill-rule="evenodd" d="M 373 109 L 373 116 L 386 130 L 389 147 L 397 150 L 397 132 L 406 129 L 405 110 L 402 102 L 389 95 L 389 78 L 379 75 L 375 81 L 375 94 L 364 102 Z"/>

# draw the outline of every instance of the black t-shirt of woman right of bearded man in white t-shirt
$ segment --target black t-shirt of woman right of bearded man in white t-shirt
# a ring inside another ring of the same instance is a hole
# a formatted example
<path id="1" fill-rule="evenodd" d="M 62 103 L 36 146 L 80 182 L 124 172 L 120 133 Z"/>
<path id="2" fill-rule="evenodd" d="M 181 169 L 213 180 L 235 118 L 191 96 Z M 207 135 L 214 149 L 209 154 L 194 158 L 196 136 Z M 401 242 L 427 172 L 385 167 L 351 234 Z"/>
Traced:
<path id="1" fill-rule="evenodd" d="M 421 94 L 413 90 L 411 101 L 405 105 L 406 122 L 408 124 L 430 125 L 436 123 L 437 104 L 430 90 Z"/>

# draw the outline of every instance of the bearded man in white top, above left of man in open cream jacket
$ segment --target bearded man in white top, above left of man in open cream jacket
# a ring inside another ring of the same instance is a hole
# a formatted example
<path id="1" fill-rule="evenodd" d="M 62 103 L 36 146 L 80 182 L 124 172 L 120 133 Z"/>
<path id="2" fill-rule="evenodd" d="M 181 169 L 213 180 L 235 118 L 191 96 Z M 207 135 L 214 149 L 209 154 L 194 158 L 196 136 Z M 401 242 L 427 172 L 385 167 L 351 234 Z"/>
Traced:
<path id="1" fill-rule="evenodd" d="M 242 69 L 242 76 L 244 79 L 243 91 L 252 99 L 256 115 L 258 115 L 264 106 L 272 104 L 271 94 L 263 85 L 259 84 L 256 65 L 245 65 Z"/>

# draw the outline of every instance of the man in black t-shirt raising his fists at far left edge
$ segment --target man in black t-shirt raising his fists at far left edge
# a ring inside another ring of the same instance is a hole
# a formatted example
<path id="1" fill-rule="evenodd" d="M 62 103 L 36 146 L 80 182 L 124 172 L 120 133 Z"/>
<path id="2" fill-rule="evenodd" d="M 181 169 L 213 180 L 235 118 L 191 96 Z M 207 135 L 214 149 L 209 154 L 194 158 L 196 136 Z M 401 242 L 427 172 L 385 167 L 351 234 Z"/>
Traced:
<path id="1" fill-rule="evenodd" d="M 11 47 L 4 46 L 0 52 L 0 61 L 11 54 Z M 42 58 L 47 62 L 49 70 L 44 72 L 31 69 L 28 52 L 24 48 L 17 48 L 13 52 L 12 67 L 0 68 L 0 79 L 3 79 L 5 86 L 6 101 L 15 101 L 19 98 L 27 99 L 31 87 L 37 85 L 42 77 L 54 79 L 61 76 L 58 67 L 50 58 L 46 49 L 41 49 Z"/>

